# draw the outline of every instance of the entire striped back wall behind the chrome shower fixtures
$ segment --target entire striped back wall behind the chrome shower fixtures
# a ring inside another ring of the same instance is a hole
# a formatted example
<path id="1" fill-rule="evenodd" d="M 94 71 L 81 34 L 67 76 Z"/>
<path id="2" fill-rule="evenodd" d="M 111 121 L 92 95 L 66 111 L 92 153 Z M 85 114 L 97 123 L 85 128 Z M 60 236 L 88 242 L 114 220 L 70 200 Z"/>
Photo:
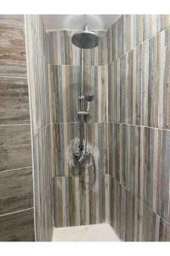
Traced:
<path id="1" fill-rule="evenodd" d="M 71 44 L 73 30 L 48 32 L 50 46 L 51 123 L 54 152 L 54 225 L 56 227 L 109 221 L 105 120 L 107 96 L 106 32 L 98 31 L 99 47 L 84 51 L 86 93 L 95 96 L 88 117 L 88 148 L 96 164 L 96 182 L 88 185 L 75 171 L 72 152 L 78 149 L 80 119 L 77 99 L 81 88 L 81 50 Z M 85 125 L 83 125 L 85 130 Z M 90 182 L 93 167 L 84 169 Z M 93 177 L 92 177 L 93 178 Z"/>

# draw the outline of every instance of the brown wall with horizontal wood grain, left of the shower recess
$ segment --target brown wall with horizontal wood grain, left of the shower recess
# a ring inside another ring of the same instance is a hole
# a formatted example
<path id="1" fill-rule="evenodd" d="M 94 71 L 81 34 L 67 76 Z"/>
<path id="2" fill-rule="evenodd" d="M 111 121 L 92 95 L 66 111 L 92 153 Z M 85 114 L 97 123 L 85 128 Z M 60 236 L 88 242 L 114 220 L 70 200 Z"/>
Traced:
<path id="1" fill-rule="evenodd" d="M 0 15 L 0 241 L 34 241 L 23 15 Z"/>

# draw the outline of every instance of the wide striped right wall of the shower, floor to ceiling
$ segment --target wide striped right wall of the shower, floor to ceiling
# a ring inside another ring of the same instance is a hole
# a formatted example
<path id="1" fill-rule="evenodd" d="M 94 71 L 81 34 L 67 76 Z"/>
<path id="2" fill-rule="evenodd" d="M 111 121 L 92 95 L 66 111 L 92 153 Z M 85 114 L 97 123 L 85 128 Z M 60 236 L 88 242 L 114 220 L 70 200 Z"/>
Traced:
<path id="1" fill-rule="evenodd" d="M 107 32 L 111 225 L 170 241 L 170 15 L 122 15 Z"/>

